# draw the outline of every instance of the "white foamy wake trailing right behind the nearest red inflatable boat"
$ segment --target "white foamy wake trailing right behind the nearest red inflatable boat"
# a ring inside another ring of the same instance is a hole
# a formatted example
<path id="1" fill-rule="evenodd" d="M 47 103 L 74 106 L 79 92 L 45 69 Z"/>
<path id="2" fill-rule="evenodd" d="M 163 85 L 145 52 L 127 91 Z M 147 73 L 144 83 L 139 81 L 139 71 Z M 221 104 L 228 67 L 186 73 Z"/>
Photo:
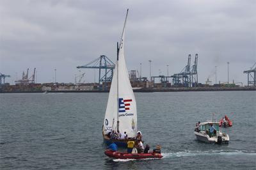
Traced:
<path id="1" fill-rule="evenodd" d="M 256 156 L 256 152 L 252 151 L 225 151 L 225 150 L 213 150 L 213 151 L 179 151 L 176 153 L 162 153 L 163 158 L 170 158 L 170 157 L 191 157 L 191 156 L 212 156 L 212 155 L 250 155 Z"/>

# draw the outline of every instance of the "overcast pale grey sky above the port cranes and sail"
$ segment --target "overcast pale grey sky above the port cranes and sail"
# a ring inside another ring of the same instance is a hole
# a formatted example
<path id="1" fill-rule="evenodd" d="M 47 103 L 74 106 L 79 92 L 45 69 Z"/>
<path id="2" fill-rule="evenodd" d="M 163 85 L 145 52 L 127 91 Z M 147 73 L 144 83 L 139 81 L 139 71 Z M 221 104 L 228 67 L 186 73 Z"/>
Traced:
<path id="1" fill-rule="evenodd" d="M 74 82 L 85 72 L 94 82 L 94 71 L 85 65 L 100 55 L 116 59 L 125 12 L 128 70 L 149 76 L 179 73 L 191 54 L 198 53 L 198 81 L 209 77 L 246 82 L 244 70 L 256 62 L 256 1 L 84 1 L 0 0 L 0 72 L 20 79 L 36 67 L 37 82 Z M 96 74 L 98 70 L 96 71 Z M 96 79 L 98 79 L 96 77 Z"/>

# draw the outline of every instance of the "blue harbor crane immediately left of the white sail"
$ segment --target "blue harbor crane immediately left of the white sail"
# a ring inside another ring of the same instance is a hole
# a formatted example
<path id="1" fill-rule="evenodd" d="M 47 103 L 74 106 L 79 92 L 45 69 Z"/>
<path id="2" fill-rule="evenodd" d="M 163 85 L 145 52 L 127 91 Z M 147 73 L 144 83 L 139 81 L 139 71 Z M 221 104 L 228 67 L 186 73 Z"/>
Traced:
<path id="1" fill-rule="evenodd" d="M 94 68 L 99 69 L 99 89 L 100 82 L 104 82 L 104 90 L 108 90 L 107 82 L 112 81 L 113 77 L 113 69 L 115 68 L 115 64 L 105 55 L 101 55 L 99 58 L 91 61 L 90 63 L 77 66 L 76 68 Z"/>

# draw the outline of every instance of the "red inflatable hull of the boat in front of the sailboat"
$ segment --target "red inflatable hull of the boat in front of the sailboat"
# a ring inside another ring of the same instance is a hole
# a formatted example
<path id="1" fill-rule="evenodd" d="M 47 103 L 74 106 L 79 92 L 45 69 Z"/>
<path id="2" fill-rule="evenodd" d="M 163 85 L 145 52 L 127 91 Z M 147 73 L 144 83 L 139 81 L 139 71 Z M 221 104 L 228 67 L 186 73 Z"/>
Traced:
<path id="1" fill-rule="evenodd" d="M 140 158 L 162 158 L 163 155 L 161 153 L 127 153 L 127 152 L 119 152 L 119 151 L 111 151 L 111 150 L 105 150 L 105 155 L 111 158 L 121 158 L 121 159 L 127 159 L 127 158 L 134 158 L 134 159 L 140 159 Z"/>

